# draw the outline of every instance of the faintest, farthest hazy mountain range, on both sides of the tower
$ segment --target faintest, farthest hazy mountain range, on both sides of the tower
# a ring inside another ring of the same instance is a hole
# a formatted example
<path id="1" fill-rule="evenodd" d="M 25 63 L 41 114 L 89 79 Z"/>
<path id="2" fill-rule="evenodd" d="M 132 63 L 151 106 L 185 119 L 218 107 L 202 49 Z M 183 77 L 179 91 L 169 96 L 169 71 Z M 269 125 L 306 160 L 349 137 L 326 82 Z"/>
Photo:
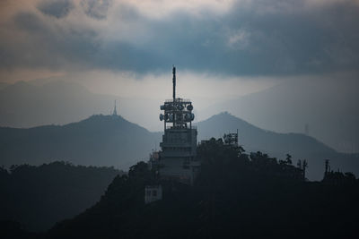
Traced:
<path id="1" fill-rule="evenodd" d="M 344 79 L 343 81 L 345 81 Z M 328 80 L 285 81 L 267 90 L 207 108 L 197 107 L 204 120 L 228 111 L 251 124 L 275 132 L 305 132 L 337 151 L 359 151 L 359 101 L 355 87 L 346 80 L 342 88 Z M 318 93 L 320 91 L 320 93 Z M 95 94 L 70 81 L 19 81 L 0 84 L 0 126 L 33 127 L 44 124 L 69 124 L 88 115 L 108 115 L 113 100 L 127 120 L 147 129 L 161 130 L 157 114 L 161 99 L 120 98 Z M 153 127 L 153 125 L 157 125 Z M 215 135 L 218 136 L 218 135 Z"/>

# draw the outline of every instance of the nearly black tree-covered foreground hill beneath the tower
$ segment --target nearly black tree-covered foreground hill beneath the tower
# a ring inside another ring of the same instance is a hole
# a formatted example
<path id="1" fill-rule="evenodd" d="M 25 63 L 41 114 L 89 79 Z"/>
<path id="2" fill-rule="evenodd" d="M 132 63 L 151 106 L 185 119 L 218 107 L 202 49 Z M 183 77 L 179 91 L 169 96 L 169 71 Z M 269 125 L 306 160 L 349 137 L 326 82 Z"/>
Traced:
<path id="1" fill-rule="evenodd" d="M 290 157 L 249 156 L 215 139 L 199 146 L 198 157 L 203 166 L 194 186 L 161 181 L 140 162 L 118 175 L 91 209 L 44 236 L 357 237 L 353 175 L 328 172 L 322 182 L 306 182 Z M 162 184 L 162 201 L 144 204 L 147 184 Z"/>

